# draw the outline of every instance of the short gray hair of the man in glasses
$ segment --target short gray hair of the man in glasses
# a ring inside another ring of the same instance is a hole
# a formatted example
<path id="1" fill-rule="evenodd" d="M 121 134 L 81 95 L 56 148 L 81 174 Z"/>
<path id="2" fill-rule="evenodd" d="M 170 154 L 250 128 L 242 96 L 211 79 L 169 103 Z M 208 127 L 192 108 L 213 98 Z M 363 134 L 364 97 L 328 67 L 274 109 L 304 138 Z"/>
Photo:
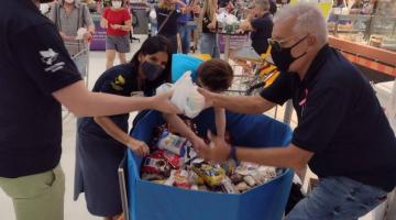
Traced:
<path id="1" fill-rule="evenodd" d="M 328 29 L 322 12 L 315 3 L 300 2 L 282 8 L 274 18 L 274 23 L 296 19 L 294 32 L 297 34 L 312 34 L 320 46 L 328 42 Z"/>

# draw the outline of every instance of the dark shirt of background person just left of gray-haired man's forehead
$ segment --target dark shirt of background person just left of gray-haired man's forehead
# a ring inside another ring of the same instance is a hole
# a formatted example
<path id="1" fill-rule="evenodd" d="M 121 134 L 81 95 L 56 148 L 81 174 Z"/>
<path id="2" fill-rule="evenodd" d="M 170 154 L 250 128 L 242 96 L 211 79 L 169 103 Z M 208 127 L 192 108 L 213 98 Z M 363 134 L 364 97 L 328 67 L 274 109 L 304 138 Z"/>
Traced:
<path id="1" fill-rule="evenodd" d="M 252 47 L 257 54 L 264 54 L 268 47 L 267 38 L 271 38 L 274 25 L 272 18 L 273 15 L 267 12 L 263 16 L 251 21 L 254 29 L 251 33 Z"/>

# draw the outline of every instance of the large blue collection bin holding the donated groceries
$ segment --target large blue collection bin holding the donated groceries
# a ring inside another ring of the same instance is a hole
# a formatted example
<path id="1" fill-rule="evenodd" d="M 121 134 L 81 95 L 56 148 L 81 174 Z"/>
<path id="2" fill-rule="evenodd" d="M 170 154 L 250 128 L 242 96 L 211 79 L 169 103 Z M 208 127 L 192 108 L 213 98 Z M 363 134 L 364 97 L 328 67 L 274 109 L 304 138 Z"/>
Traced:
<path id="1" fill-rule="evenodd" d="M 212 109 L 201 112 L 195 122 L 199 133 L 215 131 Z M 132 134 L 150 143 L 153 128 L 164 124 L 162 114 L 148 112 Z M 227 112 L 227 130 L 233 144 L 243 146 L 284 146 L 290 142 L 288 125 L 263 114 Z M 142 180 L 142 158 L 128 152 L 129 209 L 133 220 L 280 220 L 294 173 L 286 169 L 273 180 L 244 194 L 229 195 L 186 190 Z"/>

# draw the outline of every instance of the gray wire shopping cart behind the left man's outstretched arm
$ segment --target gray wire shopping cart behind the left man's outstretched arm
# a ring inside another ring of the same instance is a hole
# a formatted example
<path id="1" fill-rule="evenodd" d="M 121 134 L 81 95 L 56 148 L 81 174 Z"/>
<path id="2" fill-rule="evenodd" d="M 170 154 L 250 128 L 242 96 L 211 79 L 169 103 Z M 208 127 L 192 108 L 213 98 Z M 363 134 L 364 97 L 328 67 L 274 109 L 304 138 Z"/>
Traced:
<path id="1" fill-rule="evenodd" d="M 89 41 L 87 40 L 70 40 L 65 41 L 65 47 L 70 54 L 72 59 L 77 66 L 78 72 L 84 78 L 85 86 L 88 88 L 89 84 Z M 62 119 L 65 120 L 70 112 L 62 106 Z"/>

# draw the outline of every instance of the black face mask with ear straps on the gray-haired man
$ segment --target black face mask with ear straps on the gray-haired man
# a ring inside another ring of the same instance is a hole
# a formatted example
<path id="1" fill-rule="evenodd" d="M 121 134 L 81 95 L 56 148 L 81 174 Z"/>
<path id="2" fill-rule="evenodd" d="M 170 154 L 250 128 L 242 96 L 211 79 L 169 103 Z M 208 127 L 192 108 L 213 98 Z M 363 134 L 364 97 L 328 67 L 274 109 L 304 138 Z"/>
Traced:
<path id="1" fill-rule="evenodd" d="M 279 72 L 288 72 L 288 68 L 290 67 L 292 63 L 301 58 L 302 56 L 305 56 L 307 54 L 307 52 L 305 52 L 304 54 L 299 55 L 298 57 L 293 57 L 292 56 L 292 50 L 297 46 L 299 43 L 301 43 L 305 38 L 307 38 L 308 35 L 306 35 L 305 37 L 302 37 L 301 40 L 299 40 L 297 43 L 293 44 L 293 46 L 290 47 L 283 47 L 283 48 L 274 48 L 275 46 L 272 47 L 271 50 L 271 56 L 274 61 L 275 66 L 277 67 L 277 69 Z"/>

